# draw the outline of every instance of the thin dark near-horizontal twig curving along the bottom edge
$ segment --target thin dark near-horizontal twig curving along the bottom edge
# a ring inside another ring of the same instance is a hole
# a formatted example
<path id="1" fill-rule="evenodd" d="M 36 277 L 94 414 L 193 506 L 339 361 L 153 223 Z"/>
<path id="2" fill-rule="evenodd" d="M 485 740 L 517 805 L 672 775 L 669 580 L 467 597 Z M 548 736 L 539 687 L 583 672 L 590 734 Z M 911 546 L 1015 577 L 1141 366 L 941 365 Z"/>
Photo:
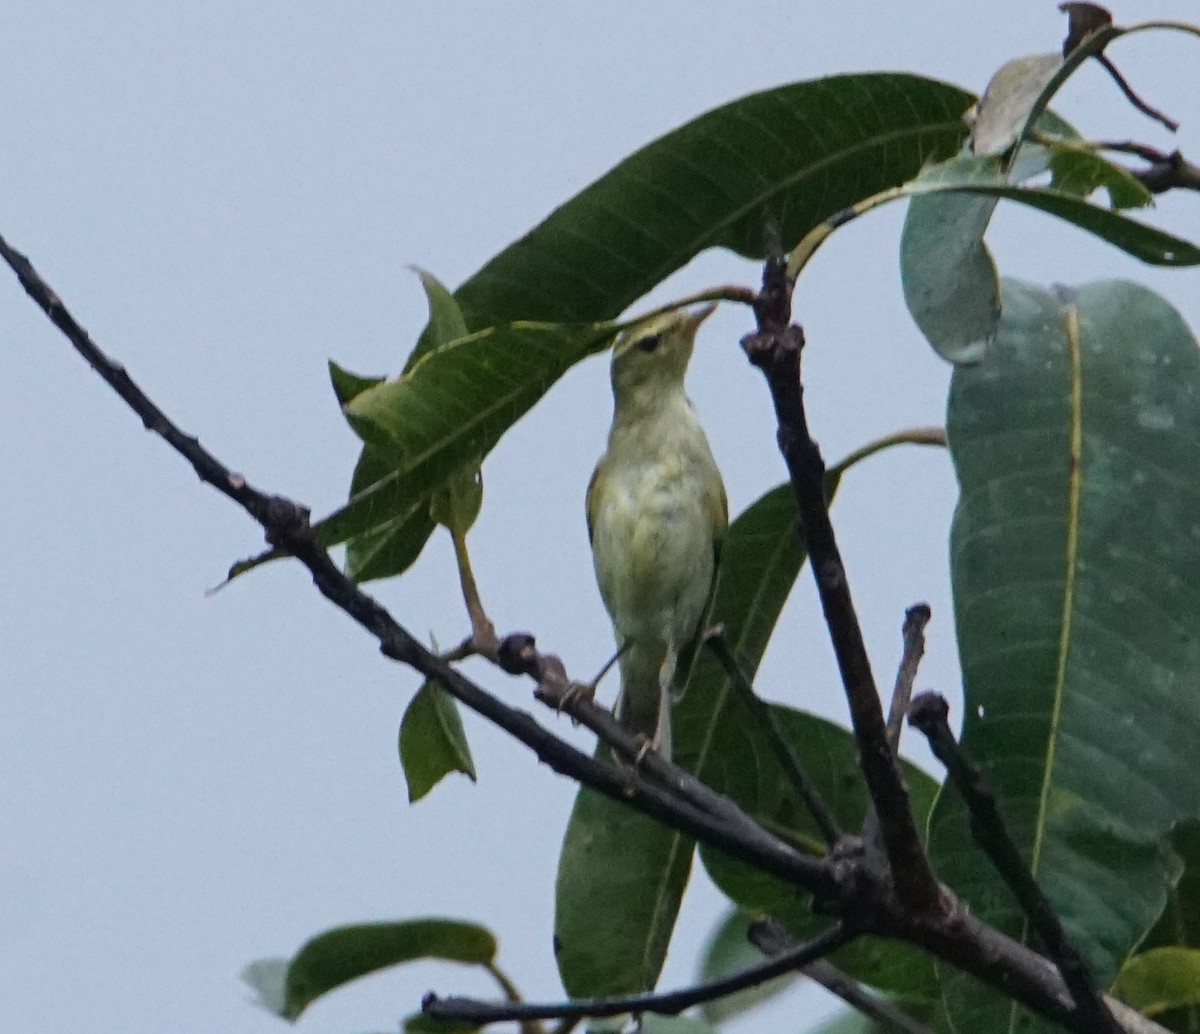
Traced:
<path id="1" fill-rule="evenodd" d="M 498 1023 L 504 1020 L 559 1020 L 575 1016 L 619 1016 L 624 1012 L 658 1012 L 674 1016 L 692 1005 L 725 998 L 746 987 L 764 984 L 791 973 L 814 960 L 822 958 L 854 938 L 853 931 L 835 926 L 775 958 L 768 958 L 740 973 L 684 987 L 680 991 L 631 994 L 624 998 L 586 998 L 578 1002 L 544 1004 L 509 1004 L 480 1002 L 474 998 L 438 998 L 426 994 L 421 1011 L 436 1020 L 457 1020 L 468 1023 Z"/>

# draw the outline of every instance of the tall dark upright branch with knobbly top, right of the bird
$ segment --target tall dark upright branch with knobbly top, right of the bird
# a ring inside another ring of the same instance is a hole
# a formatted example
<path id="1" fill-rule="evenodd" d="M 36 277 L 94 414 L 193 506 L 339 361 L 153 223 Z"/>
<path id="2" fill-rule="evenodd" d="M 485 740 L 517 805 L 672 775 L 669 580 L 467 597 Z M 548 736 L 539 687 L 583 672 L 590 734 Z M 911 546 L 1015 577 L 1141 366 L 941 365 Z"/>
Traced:
<path id="1" fill-rule="evenodd" d="M 758 331 L 742 341 L 750 361 L 762 369 L 779 421 L 779 449 L 796 493 L 809 566 L 817 583 L 829 638 L 838 659 L 859 761 L 871 802 L 880 817 L 893 883 L 914 912 L 941 908 L 942 896 L 922 847 L 908 804 L 908 789 L 888 746 L 883 709 L 875 687 L 866 645 L 850 595 L 846 569 L 829 521 L 824 461 L 809 433 L 800 381 L 804 332 L 791 323 L 792 282 L 784 258 L 767 260 L 763 288 L 755 306 Z"/>

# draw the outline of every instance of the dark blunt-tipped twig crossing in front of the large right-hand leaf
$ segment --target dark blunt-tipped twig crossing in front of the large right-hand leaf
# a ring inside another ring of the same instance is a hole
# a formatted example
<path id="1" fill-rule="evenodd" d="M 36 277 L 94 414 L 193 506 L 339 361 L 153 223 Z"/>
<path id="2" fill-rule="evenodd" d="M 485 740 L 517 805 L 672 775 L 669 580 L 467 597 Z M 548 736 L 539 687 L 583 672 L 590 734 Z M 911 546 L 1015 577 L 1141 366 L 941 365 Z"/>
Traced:
<path id="1" fill-rule="evenodd" d="M 1058 967 L 1075 999 L 1076 1029 L 1081 1034 L 1120 1034 L 1122 1028 L 1104 1004 L 1082 956 L 1021 858 L 983 773 L 971 764 L 954 739 L 948 714 L 949 705 L 943 697 L 919 693 L 910 708 L 908 722 L 924 734 L 934 755 L 946 765 L 947 775 L 971 817 L 972 837 L 988 855 Z"/>

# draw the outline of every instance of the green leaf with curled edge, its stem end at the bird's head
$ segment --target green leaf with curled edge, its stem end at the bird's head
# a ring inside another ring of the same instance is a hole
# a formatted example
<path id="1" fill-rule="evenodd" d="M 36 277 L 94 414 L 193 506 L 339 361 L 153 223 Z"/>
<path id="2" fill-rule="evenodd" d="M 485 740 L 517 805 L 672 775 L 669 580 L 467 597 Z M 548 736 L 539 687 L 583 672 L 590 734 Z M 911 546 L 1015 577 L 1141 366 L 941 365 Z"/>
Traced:
<path id="1" fill-rule="evenodd" d="M 379 534 L 389 523 L 432 523 L 430 493 L 486 456 L 559 377 L 606 348 L 611 333 L 529 323 L 490 327 L 436 348 L 400 379 L 355 396 L 344 407 L 347 419 L 373 447 L 360 458 L 350 501 L 317 525 L 322 541 Z M 374 552 L 385 548 L 371 541 Z M 368 577 L 365 567 L 352 565 L 360 579 Z M 382 567 L 377 563 L 370 576 Z"/>

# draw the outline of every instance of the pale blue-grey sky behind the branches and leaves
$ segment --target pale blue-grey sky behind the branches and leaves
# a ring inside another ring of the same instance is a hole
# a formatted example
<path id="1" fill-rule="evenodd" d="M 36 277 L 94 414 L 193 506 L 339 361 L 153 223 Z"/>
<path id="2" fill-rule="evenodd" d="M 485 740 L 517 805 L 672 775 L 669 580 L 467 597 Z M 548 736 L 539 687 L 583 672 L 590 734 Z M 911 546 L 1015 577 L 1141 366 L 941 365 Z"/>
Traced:
<path id="1" fill-rule="evenodd" d="M 10 5 L 0 230 L 185 428 L 319 513 L 343 499 L 358 451 L 325 361 L 398 369 L 424 323 L 407 264 L 457 283 L 622 156 L 740 94 L 880 68 L 980 90 L 1062 30 L 1040 0 Z M 1163 35 L 1112 50 L 1183 121 L 1193 157 L 1196 55 Z M 1171 146 L 1098 68 L 1060 109 L 1086 132 Z M 1194 196 L 1160 216 L 1200 238 Z M 900 217 L 840 232 L 797 294 L 830 459 L 942 419 L 948 369 L 900 300 Z M 1145 269 L 1004 208 L 991 240 L 1007 273 L 1136 278 L 1200 324 L 1194 271 Z M 756 277 L 707 256 L 662 296 Z M 557 997 L 552 882 L 572 787 L 468 717 L 479 784 L 455 778 L 409 807 L 395 739 L 416 679 L 296 566 L 205 599 L 260 547 L 254 525 L 142 431 L 11 278 L 0 327 L 0 1028 L 281 1032 L 248 1004 L 244 963 L 331 925 L 424 914 L 488 924 L 522 988 Z M 732 309 L 706 324 L 690 380 L 734 511 L 782 476 L 764 389 L 736 347 L 745 330 Z M 608 415 L 598 359 L 490 459 L 472 536 L 500 629 L 536 632 L 581 675 L 611 642 L 582 517 Z M 920 685 L 952 697 L 953 503 L 946 457 L 910 450 L 856 471 L 836 506 L 880 680 L 904 608 L 926 599 Z M 376 588 L 414 632 L 464 632 L 440 537 Z M 761 687 L 841 720 L 816 619 L 804 581 Z M 534 707 L 527 683 L 473 671 Z M 697 880 L 666 982 L 690 978 L 716 909 Z M 466 970 L 414 968 L 331 997 L 300 1029 L 394 1029 L 430 988 L 490 992 Z"/>

